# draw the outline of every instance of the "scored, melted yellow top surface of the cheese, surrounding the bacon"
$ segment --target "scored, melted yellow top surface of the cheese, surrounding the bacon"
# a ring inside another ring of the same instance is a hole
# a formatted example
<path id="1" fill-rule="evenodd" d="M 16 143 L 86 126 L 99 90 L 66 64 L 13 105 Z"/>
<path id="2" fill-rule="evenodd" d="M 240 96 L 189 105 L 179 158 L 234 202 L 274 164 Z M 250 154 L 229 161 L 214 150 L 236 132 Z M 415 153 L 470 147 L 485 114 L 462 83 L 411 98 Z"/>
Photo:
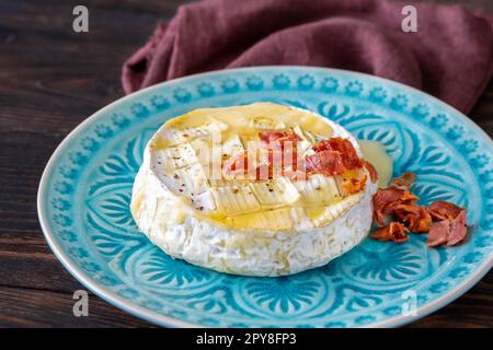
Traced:
<path id="1" fill-rule="evenodd" d="M 300 155 L 312 154 L 314 143 L 331 137 L 349 139 L 363 155 L 342 127 L 298 108 L 256 103 L 195 109 L 167 121 L 149 142 L 151 171 L 183 203 L 170 208 L 170 218 L 180 221 L 185 218 L 181 213 L 193 210 L 200 219 L 233 229 L 293 231 L 324 226 L 358 202 L 363 194 L 347 194 L 341 184 L 362 178 L 365 170 L 298 180 L 225 179 L 215 172 L 215 164 L 244 152 L 249 141 L 259 140 L 259 132 L 273 130 L 294 131 L 301 139 Z"/>

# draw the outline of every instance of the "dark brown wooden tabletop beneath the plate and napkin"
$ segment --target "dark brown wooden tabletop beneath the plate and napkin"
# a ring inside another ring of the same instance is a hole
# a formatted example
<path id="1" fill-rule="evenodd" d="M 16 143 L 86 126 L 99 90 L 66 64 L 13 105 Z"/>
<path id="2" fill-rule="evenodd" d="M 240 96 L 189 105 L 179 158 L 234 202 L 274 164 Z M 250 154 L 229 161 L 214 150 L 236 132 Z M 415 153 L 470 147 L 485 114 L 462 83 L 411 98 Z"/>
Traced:
<path id="1" fill-rule="evenodd" d="M 45 242 L 36 191 L 58 143 L 89 115 L 123 95 L 123 60 L 181 2 L 0 2 L 0 326 L 150 326 L 92 294 L 89 317 L 72 315 L 72 293 L 83 287 Z M 88 34 L 72 31 L 71 13 L 79 3 L 90 11 Z M 493 11 L 489 0 L 468 5 Z M 493 83 L 470 116 L 493 135 Z M 443 326 L 493 326 L 491 273 L 456 302 L 411 325 Z"/>

